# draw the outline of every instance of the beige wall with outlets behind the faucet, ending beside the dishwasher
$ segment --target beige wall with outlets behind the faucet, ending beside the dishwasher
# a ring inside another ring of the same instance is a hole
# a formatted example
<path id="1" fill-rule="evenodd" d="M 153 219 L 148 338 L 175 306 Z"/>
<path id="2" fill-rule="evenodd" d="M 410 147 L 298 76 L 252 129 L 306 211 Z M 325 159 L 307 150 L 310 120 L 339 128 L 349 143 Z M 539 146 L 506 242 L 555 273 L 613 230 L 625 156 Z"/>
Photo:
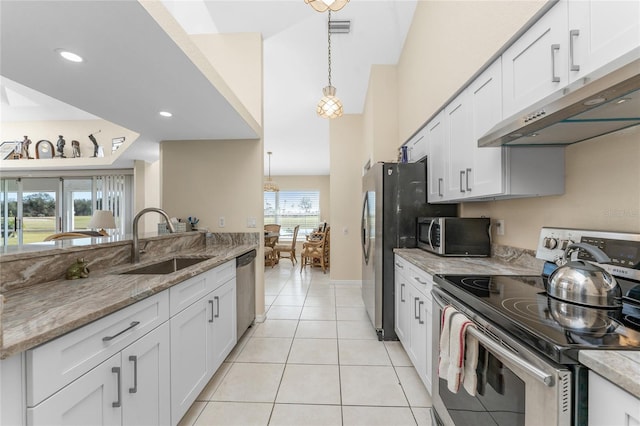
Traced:
<path id="1" fill-rule="evenodd" d="M 161 143 L 162 208 L 170 216 L 197 216 L 198 226 L 213 232 L 262 230 L 262 151 L 262 140 Z M 221 216 L 224 228 L 218 226 Z M 247 227 L 249 217 L 256 219 L 256 228 Z M 263 256 L 259 248 L 258 259 Z M 263 265 L 256 265 L 257 295 L 264 294 Z M 256 315 L 263 314 L 264 298 L 257 297 Z"/>

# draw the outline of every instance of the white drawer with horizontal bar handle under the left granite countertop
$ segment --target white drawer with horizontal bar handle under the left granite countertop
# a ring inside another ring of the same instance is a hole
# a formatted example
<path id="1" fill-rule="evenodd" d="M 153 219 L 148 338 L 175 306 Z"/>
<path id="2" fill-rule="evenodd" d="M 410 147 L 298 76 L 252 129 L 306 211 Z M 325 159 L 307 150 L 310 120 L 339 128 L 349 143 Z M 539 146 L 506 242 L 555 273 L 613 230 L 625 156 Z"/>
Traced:
<path id="1" fill-rule="evenodd" d="M 33 407 L 169 319 L 167 291 L 27 351 L 27 406 Z"/>

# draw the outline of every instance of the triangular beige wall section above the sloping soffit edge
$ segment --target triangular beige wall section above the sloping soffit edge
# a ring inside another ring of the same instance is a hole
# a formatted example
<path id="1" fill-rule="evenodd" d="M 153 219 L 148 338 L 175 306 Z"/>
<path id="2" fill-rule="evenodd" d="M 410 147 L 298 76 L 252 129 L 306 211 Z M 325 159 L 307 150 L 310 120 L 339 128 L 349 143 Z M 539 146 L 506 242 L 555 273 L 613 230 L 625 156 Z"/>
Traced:
<path id="1" fill-rule="evenodd" d="M 262 123 L 262 36 L 201 34 L 191 39 L 220 73 L 251 116 Z"/>

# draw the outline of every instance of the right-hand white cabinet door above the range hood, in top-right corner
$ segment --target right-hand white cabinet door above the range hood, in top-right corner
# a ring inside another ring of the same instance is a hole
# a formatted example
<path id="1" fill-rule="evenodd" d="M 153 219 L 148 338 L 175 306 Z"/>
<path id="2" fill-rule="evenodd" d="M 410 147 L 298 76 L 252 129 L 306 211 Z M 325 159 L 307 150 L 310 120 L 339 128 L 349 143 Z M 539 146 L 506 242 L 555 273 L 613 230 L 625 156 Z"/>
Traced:
<path id="1" fill-rule="evenodd" d="M 571 81 L 633 49 L 638 50 L 640 2 L 591 0 L 568 3 Z"/>

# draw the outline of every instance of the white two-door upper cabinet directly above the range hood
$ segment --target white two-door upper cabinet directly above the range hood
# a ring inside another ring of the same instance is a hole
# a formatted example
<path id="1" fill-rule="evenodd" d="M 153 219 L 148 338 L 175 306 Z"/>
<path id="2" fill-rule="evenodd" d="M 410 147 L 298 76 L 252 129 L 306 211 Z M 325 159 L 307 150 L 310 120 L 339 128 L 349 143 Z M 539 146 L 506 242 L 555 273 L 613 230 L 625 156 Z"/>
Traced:
<path id="1" fill-rule="evenodd" d="M 502 54 L 503 115 L 639 56 L 640 2 L 560 0 Z"/>

